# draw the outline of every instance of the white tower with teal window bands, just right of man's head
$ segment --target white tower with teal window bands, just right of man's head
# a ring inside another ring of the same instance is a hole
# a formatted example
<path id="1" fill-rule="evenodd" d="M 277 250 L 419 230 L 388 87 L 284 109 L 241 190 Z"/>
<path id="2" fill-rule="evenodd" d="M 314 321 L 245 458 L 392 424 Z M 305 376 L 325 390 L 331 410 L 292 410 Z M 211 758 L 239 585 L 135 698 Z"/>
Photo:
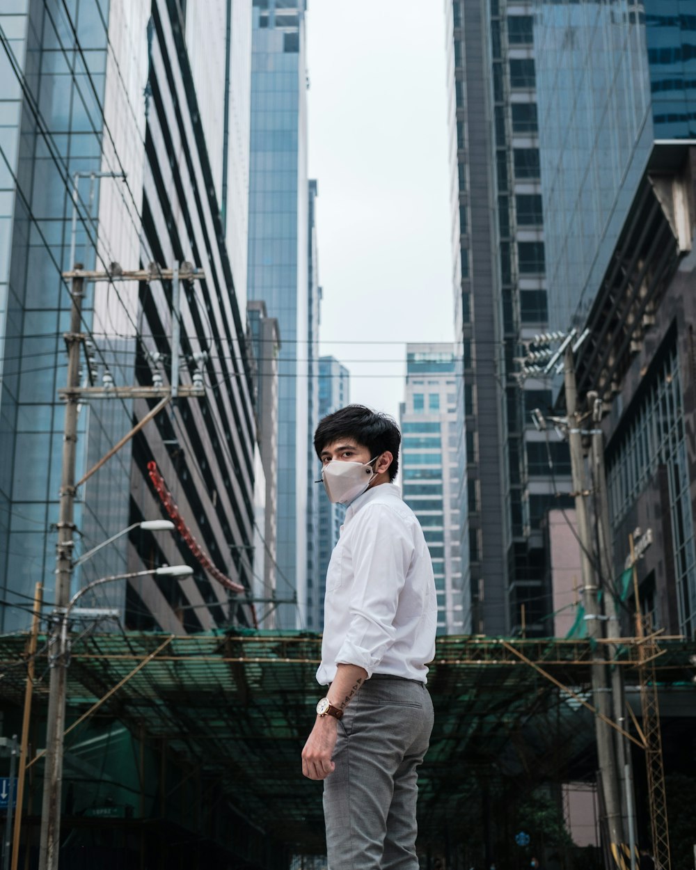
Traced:
<path id="1" fill-rule="evenodd" d="M 461 552 L 465 478 L 457 345 L 406 345 L 400 472 L 404 500 L 423 526 L 438 594 L 438 633 L 471 632 L 469 579 Z"/>

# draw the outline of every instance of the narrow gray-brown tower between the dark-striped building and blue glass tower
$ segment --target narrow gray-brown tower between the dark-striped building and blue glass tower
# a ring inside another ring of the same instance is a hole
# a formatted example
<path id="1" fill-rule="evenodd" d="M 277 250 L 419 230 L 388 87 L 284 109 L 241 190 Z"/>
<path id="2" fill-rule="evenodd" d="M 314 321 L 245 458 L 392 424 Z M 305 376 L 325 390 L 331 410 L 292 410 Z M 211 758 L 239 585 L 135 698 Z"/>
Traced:
<path id="1" fill-rule="evenodd" d="M 255 542 L 254 573 L 255 580 L 262 585 L 258 598 L 266 599 L 260 604 L 262 612 L 268 612 L 262 628 L 275 628 L 276 614 L 271 609 L 274 597 L 287 597 L 291 590 L 284 588 L 277 595 L 278 572 L 276 560 L 277 516 L 278 516 L 278 353 L 280 334 L 278 320 L 268 317 L 264 302 L 250 302 L 247 316 L 251 331 L 251 345 L 254 351 L 255 383 L 254 406 L 256 408 L 258 445 L 264 468 L 264 516 L 261 532 L 263 538 Z M 257 524 L 258 525 L 258 524 Z M 283 584 L 281 584 L 283 586 Z"/>

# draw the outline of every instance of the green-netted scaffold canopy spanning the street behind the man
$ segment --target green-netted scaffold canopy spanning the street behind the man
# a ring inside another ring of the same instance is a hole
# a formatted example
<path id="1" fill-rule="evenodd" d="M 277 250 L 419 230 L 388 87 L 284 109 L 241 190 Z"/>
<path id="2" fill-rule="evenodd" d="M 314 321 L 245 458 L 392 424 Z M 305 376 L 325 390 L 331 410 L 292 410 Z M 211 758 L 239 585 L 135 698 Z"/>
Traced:
<path id="1" fill-rule="evenodd" d="M 26 642 L 23 635 L 0 637 L 5 704 L 23 703 Z M 106 713 L 196 763 L 273 837 L 321 852 L 322 786 L 305 780 L 300 762 L 321 694 L 320 644 L 320 635 L 308 632 L 87 634 L 73 644 L 68 668 L 66 749 L 81 717 Z M 33 714 L 41 719 L 46 646 L 40 638 Z M 435 729 L 419 780 L 421 828 L 461 820 L 492 766 L 499 775 L 539 782 L 592 778 L 590 665 L 600 650 L 589 640 L 438 638 L 428 683 Z M 638 682 L 637 643 L 626 639 L 612 650 L 630 695 Z M 693 642 L 661 640 L 654 662 L 659 684 L 683 693 L 692 708 L 694 653 Z"/>

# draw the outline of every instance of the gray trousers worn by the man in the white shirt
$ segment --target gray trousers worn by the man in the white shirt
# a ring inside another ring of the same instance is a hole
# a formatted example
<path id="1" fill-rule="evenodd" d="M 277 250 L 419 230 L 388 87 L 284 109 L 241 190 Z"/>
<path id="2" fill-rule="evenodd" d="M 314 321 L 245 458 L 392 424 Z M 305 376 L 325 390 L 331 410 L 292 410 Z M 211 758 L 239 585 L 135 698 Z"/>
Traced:
<path id="1" fill-rule="evenodd" d="M 338 722 L 324 780 L 329 870 L 418 870 L 418 765 L 432 732 L 422 683 L 373 674 Z"/>

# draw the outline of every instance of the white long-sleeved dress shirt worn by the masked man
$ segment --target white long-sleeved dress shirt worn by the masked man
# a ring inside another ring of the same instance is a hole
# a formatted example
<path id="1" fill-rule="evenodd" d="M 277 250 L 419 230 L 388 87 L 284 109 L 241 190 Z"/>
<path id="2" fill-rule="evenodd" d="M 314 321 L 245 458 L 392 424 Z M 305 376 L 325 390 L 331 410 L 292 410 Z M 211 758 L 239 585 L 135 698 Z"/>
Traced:
<path id="1" fill-rule="evenodd" d="M 435 655 L 437 598 L 423 530 L 398 487 L 379 484 L 351 502 L 326 572 L 318 682 L 337 665 L 426 682 Z"/>

